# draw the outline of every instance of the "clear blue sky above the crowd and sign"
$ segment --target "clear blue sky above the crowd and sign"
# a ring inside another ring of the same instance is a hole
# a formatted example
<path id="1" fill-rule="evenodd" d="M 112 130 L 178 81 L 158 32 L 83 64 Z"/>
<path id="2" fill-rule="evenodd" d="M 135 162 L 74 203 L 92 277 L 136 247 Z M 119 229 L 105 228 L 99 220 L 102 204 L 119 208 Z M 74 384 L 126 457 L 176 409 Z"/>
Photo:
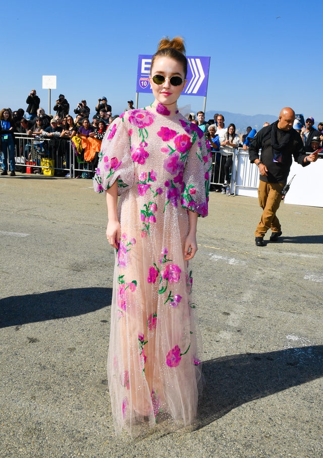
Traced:
<path id="1" fill-rule="evenodd" d="M 188 55 L 210 56 L 206 111 L 278 115 L 291 106 L 317 124 L 323 120 L 321 14 L 318 0 L 11 0 L 0 16 L 0 106 L 26 109 L 36 89 L 48 112 L 42 75 L 57 75 L 51 112 L 63 93 L 71 111 L 85 98 L 93 112 L 106 96 L 119 114 L 135 100 L 138 55 L 153 54 L 163 36 L 181 35 Z M 139 93 L 139 106 L 151 100 Z M 187 104 L 196 112 L 203 98 L 182 96 L 179 106 Z"/>

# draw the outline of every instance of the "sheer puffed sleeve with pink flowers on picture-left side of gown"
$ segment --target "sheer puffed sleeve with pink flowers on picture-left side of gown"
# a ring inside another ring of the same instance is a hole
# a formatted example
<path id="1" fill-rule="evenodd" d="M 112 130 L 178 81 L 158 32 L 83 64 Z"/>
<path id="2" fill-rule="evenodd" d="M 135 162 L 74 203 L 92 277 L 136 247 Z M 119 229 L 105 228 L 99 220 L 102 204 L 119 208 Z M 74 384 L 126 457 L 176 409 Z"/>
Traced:
<path id="1" fill-rule="evenodd" d="M 131 188 L 134 181 L 129 134 L 122 117 L 116 118 L 104 135 L 93 180 L 94 190 L 103 192 L 116 180 L 119 195 Z"/>

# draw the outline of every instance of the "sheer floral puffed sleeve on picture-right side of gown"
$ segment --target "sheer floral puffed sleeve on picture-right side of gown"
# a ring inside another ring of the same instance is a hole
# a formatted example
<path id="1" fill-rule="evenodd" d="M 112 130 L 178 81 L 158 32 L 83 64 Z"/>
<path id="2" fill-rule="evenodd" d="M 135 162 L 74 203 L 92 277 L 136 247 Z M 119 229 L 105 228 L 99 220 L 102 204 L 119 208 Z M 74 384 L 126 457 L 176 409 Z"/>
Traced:
<path id="1" fill-rule="evenodd" d="M 181 205 L 200 216 L 207 216 L 210 170 L 212 154 L 201 129 L 191 124 L 192 146 L 189 150 L 183 173 Z"/>

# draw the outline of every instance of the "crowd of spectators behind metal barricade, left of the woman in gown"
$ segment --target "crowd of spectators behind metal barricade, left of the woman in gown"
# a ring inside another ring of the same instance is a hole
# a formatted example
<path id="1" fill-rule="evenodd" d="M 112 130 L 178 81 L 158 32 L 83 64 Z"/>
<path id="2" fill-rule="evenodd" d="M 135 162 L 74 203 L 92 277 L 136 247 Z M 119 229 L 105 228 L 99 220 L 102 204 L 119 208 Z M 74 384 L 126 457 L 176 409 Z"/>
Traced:
<path id="1" fill-rule="evenodd" d="M 107 126 L 118 116 L 112 115 L 112 106 L 107 103 L 106 97 L 102 96 L 98 99 L 92 118 L 90 118 L 91 109 L 85 99 L 77 104 L 74 109 L 75 117 L 73 117 L 70 114 L 70 104 L 64 94 L 59 95 L 52 108 L 55 115 L 46 114 L 40 107 L 40 99 L 35 89 L 30 91 L 26 103 L 28 104 L 26 111 L 23 108 L 18 110 L 4 108 L 0 111 L 3 169 L 1 175 L 8 175 L 8 157 L 10 175 L 15 176 L 16 158 L 19 157 L 19 166 L 22 163 L 28 165 L 32 163 L 33 172 L 40 173 L 40 156 L 48 156 L 55 158 L 56 173 L 69 177 L 71 155 L 69 143 L 65 141 L 67 139 L 71 141 L 77 159 L 76 178 L 90 178 L 93 173 L 86 170 L 95 170 L 100 144 Z M 129 99 L 127 103 L 125 110 L 134 108 L 133 100 Z M 29 139 L 29 142 L 18 142 L 17 137 L 21 140 L 22 136 Z M 21 157 L 24 159 L 23 162 Z M 19 169 L 21 170 L 21 167 Z"/>

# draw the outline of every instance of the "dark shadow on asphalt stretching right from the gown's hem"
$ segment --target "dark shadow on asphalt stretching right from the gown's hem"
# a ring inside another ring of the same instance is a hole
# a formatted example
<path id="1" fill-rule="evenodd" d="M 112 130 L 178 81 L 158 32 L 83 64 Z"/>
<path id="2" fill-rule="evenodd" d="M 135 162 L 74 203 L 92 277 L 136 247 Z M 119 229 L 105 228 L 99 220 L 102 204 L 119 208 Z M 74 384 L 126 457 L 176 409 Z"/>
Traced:
<path id="1" fill-rule="evenodd" d="M 242 404 L 323 376 L 323 346 L 225 356 L 203 362 L 203 374 L 196 429 Z"/>

